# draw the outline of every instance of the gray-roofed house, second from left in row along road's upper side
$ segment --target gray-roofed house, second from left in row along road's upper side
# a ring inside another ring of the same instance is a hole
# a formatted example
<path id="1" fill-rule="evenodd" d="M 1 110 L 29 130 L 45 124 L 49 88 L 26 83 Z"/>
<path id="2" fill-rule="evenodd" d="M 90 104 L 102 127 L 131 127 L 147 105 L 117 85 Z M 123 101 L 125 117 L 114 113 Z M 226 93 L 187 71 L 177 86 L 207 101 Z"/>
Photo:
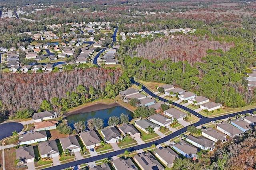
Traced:
<path id="1" fill-rule="evenodd" d="M 55 140 L 49 140 L 46 142 L 38 143 L 40 154 L 56 154 L 59 152 L 58 146 Z"/>

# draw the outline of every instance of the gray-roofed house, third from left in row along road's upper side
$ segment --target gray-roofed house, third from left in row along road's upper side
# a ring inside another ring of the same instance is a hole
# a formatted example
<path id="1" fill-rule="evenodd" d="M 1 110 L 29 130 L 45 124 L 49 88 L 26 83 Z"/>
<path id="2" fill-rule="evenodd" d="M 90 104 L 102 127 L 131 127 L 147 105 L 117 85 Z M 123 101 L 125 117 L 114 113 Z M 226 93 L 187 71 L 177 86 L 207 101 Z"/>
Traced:
<path id="1" fill-rule="evenodd" d="M 76 136 L 60 138 L 60 144 L 64 151 L 66 149 L 69 150 L 69 152 L 79 152 L 81 150 L 80 144 L 78 143 Z"/>

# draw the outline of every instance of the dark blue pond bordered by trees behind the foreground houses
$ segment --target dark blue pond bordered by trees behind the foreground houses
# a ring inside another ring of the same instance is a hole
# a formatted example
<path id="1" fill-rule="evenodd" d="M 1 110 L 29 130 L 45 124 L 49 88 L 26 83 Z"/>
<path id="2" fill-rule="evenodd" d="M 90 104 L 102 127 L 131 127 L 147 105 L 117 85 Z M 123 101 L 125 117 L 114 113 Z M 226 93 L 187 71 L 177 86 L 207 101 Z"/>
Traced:
<path id="1" fill-rule="evenodd" d="M 112 116 L 120 117 L 121 113 L 124 113 L 125 115 L 129 116 L 129 120 L 132 119 L 133 113 L 129 111 L 128 109 L 125 109 L 121 106 L 112 107 L 110 109 L 103 109 L 99 111 L 93 111 L 93 112 L 86 112 L 86 113 L 78 113 L 75 115 L 70 115 L 66 117 L 66 120 L 68 121 L 68 125 L 70 125 L 73 128 L 74 123 L 78 121 L 84 121 L 87 123 L 87 120 L 90 118 L 100 118 L 104 121 L 104 127 L 108 126 L 108 118 Z"/>

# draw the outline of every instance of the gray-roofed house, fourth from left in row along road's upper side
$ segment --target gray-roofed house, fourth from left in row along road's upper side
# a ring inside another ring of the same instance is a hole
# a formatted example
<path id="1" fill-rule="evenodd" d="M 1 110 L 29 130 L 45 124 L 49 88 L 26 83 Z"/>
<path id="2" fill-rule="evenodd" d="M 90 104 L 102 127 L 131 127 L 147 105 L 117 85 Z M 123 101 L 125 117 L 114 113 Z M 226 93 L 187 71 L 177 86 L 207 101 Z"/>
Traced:
<path id="1" fill-rule="evenodd" d="M 81 132 L 79 133 L 79 136 L 86 148 L 94 148 L 95 146 L 100 146 L 101 139 L 95 130 Z"/>

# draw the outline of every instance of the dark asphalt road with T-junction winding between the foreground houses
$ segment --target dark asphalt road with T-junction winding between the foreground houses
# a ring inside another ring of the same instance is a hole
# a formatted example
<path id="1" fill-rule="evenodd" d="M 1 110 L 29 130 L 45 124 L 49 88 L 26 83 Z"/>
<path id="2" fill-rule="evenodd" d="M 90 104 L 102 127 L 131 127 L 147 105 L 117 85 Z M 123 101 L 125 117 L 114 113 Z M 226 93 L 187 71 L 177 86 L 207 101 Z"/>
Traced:
<path id="1" fill-rule="evenodd" d="M 136 81 L 132 81 L 132 83 L 134 83 L 136 85 L 140 85 L 140 83 L 138 83 Z M 158 97 L 160 101 L 168 102 L 168 100 L 163 99 L 162 97 L 159 97 L 159 96 L 155 95 L 154 93 L 152 93 L 149 89 L 147 89 L 143 85 L 142 85 L 142 89 L 146 93 L 151 95 L 152 97 Z M 186 111 L 189 111 L 190 113 L 192 113 L 195 116 L 198 116 L 199 122 L 193 124 L 196 127 L 200 126 L 200 125 L 203 125 L 205 123 L 213 122 L 213 121 L 215 121 L 217 119 L 218 120 L 226 119 L 226 118 L 229 118 L 229 117 L 234 117 L 237 114 L 245 114 L 245 113 L 251 113 L 253 111 L 256 111 L 256 109 L 250 109 L 250 110 L 247 110 L 247 111 L 241 111 L 241 112 L 237 112 L 237 113 L 232 113 L 232 114 L 229 114 L 229 115 L 224 115 L 224 116 L 220 116 L 220 117 L 216 117 L 216 118 L 208 118 L 208 117 L 204 117 L 204 116 L 198 114 L 197 112 L 193 111 L 192 109 L 184 107 L 184 106 L 182 106 L 182 105 L 180 105 L 178 103 L 173 103 L 173 105 L 177 106 L 177 107 L 180 107 L 180 108 L 182 108 L 182 109 L 184 109 Z M 85 159 L 82 159 L 82 160 L 77 160 L 77 161 L 74 161 L 74 162 L 69 162 L 69 163 L 66 163 L 66 164 L 58 165 L 58 166 L 49 167 L 49 168 L 46 168 L 46 170 L 64 169 L 64 168 L 68 168 L 70 166 L 71 167 L 78 166 L 80 164 L 85 164 L 86 162 L 93 162 L 93 161 L 100 160 L 100 159 L 103 159 L 103 158 L 111 158 L 112 156 L 116 156 L 118 154 L 123 154 L 126 149 L 129 152 L 131 152 L 131 151 L 134 151 L 134 150 L 148 148 L 148 147 L 152 146 L 152 144 L 156 144 L 157 145 L 157 144 L 160 144 L 160 143 L 164 143 L 164 142 L 170 140 L 171 138 L 174 138 L 174 137 L 180 135 L 181 133 L 186 132 L 187 131 L 186 128 L 187 127 L 181 128 L 180 130 L 177 130 L 176 132 L 173 132 L 172 134 L 169 134 L 168 136 L 165 136 L 164 138 L 160 138 L 160 139 L 155 140 L 153 142 L 149 142 L 149 143 L 145 143 L 145 144 L 141 144 L 141 145 L 137 145 L 137 146 L 133 146 L 133 147 L 130 147 L 130 148 L 121 149 L 121 150 L 116 150 L 114 152 L 110 152 L 110 153 L 106 153 L 106 154 L 101 154 L 101 155 L 98 155 L 98 156 L 93 156 L 93 157 L 90 157 L 90 158 L 85 158 Z"/>

